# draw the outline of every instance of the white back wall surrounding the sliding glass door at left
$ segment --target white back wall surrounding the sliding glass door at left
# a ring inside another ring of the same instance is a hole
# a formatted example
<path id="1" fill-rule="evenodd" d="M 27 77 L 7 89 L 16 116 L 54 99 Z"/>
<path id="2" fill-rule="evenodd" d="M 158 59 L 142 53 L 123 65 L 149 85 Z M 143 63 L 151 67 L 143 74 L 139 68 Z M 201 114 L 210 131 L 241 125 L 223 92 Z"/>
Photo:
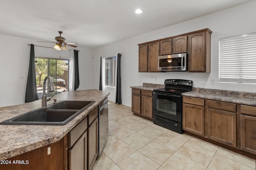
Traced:
<path id="1" fill-rule="evenodd" d="M 0 34 L 0 107 L 24 104 L 30 46 L 48 46 L 34 39 L 26 39 Z M 92 89 L 92 49 L 76 48 L 78 54 L 80 86 L 78 90 Z M 57 51 L 50 48 L 34 47 L 35 56 L 70 59 L 73 51 Z"/>

